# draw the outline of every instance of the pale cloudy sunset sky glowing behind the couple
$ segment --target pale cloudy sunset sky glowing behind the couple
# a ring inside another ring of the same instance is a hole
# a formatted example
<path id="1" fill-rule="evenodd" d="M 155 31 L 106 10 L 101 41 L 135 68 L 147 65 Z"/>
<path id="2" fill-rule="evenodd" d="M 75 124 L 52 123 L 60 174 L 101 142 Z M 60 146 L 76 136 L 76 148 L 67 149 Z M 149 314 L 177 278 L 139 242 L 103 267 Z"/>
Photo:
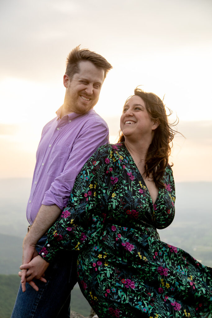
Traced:
<path id="1" fill-rule="evenodd" d="M 2 0 L 0 178 L 32 177 L 42 127 L 63 104 L 66 57 L 80 44 L 113 65 L 94 107 L 110 142 L 142 85 L 179 118 L 175 181 L 212 181 L 211 15 L 210 0 Z"/>

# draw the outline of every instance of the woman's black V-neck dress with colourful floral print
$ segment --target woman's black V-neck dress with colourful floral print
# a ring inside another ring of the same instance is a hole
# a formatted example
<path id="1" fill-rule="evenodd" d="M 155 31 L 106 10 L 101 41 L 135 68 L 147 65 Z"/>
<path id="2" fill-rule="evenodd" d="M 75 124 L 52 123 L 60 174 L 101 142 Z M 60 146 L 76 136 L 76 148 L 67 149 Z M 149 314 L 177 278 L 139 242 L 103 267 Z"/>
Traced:
<path id="1" fill-rule="evenodd" d="M 78 175 L 42 257 L 78 251 L 79 286 L 99 318 L 211 316 L 211 268 L 160 241 L 174 219 L 174 179 L 155 203 L 124 143 L 101 146 Z"/>

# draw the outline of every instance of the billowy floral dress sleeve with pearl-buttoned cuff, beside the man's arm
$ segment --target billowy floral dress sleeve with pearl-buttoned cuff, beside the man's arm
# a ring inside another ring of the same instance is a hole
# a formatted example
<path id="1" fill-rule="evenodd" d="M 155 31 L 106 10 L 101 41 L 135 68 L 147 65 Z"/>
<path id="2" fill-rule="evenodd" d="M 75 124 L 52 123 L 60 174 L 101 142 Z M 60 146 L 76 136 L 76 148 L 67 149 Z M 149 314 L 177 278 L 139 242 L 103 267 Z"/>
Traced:
<path id="1" fill-rule="evenodd" d="M 46 261 L 51 262 L 60 249 L 79 251 L 101 234 L 109 193 L 113 191 L 112 183 L 106 187 L 109 153 L 109 146 L 100 147 L 77 176 L 68 204 L 49 229 L 40 252 Z"/>

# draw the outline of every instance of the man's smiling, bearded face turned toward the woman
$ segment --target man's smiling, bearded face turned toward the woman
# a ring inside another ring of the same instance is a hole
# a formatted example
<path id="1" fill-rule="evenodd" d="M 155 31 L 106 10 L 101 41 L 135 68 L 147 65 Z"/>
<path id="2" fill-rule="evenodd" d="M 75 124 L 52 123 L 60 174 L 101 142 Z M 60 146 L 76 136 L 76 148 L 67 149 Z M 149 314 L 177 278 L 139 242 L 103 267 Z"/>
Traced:
<path id="1" fill-rule="evenodd" d="M 74 74 L 72 79 L 65 74 L 65 111 L 85 114 L 92 109 L 99 100 L 104 74 L 102 68 L 97 68 L 90 61 L 81 61 L 79 73 Z"/>

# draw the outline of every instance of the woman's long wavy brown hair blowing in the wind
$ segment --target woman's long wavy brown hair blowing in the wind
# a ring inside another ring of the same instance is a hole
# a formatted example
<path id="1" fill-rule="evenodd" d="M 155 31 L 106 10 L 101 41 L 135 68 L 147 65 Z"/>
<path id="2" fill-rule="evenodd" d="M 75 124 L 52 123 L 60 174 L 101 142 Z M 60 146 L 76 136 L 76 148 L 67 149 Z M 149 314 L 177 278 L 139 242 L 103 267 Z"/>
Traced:
<path id="1" fill-rule="evenodd" d="M 147 151 L 145 174 L 147 177 L 152 174 L 156 186 L 158 188 L 164 188 L 165 185 L 162 182 L 162 177 L 168 165 L 168 157 L 173 146 L 172 140 L 177 133 L 176 130 L 172 129 L 172 126 L 175 126 L 178 123 L 178 118 L 173 124 L 168 122 L 168 116 L 172 114 L 172 111 L 168 108 L 169 114 L 166 114 L 165 105 L 157 95 L 146 93 L 138 87 L 134 90 L 134 94 L 142 98 L 149 116 L 153 120 L 159 122 L 158 127 L 154 130 L 154 137 Z M 125 104 L 129 98 L 126 100 Z M 124 141 L 125 137 L 120 131 L 118 142 Z"/>

